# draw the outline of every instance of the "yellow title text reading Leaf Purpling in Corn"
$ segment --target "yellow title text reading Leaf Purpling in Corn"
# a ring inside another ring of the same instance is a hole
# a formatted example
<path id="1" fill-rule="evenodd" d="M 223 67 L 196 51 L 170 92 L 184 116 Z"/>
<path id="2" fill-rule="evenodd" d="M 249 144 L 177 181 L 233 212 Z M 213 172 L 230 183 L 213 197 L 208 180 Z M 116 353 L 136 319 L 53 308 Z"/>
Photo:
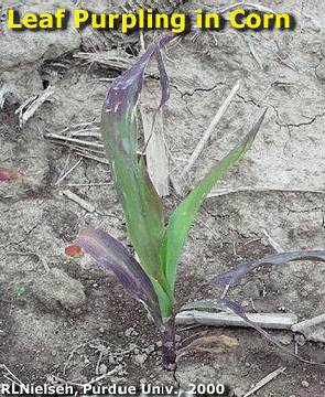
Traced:
<path id="1" fill-rule="evenodd" d="M 120 30 L 130 33 L 138 29 L 169 29 L 173 33 L 184 33 L 195 30 L 223 30 L 230 24 L 238 30 L 271 30 L 293 29 L 294 18 L 289 13 L 262 13 L 249 12 L 245 9 L 236 9 L 230 12 L 226 20 L 217 13 L 206 13 L 202 9 L 195 14 L 184 13 L 156 13 L 152 9 L 140 9 L 134 13 L 94 13 L 89 10 L 77 9 L 71 12 L 59 8 L 54 13 L 33 13 L 23 15 L 18 10 L 8 11 L 8 24 L 13 30 L 55 30 L 66 29 L 73 15 L 74 28 L 83 30 L 87 25 L 94 29 Z M 193 20 L 195 19 L 195 21 Z"/>

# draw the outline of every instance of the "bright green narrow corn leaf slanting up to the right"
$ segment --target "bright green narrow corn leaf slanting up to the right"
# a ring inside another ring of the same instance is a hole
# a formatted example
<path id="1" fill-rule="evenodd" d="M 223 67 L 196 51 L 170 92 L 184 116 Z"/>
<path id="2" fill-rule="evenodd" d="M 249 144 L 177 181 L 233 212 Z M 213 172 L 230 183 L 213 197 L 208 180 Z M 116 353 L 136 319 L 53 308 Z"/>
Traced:
<path id="1" fill-rule="evenodd" d="M 243 157 L 251 147 L 254 137 L 262 124 L 267 109 L 252 127 L 250 132 L 237 144 L 209 173 L 196 185 L 188 196 L 173 212 L 169 226 L 165 230 L 161 248 L 161 258 L 164 264 L 164 272 L 170 282 L 171 290 L 174 289 L 177 265 L 182 248 L 185 244 L 189 227 L 195 219 L 199 206 L 217 181 Z"/>

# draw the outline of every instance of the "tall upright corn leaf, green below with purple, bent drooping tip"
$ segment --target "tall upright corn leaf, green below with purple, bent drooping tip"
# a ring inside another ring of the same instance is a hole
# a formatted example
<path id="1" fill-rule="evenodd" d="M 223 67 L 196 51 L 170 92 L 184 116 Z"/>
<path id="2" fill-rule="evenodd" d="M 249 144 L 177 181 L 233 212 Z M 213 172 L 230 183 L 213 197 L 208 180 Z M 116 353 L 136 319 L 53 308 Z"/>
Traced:
<path id="1" fill-rule="evenodd" d="M 101 136 L 116 189 L 121 200 L 131 243 L 154 283 L 164 318 L 172 314 L 172 292 L 162 270 L 160 246 L 164 234 L 162 202 L 137 155 L 134 109 L 143 88 L 144 72 L 155 55 L 162 87 L 162 106 L 169 98 L 169 82 L 160 49 L 174 39 L 163 34 L 141 58 L 109 88 L 102 108 Z"/>

